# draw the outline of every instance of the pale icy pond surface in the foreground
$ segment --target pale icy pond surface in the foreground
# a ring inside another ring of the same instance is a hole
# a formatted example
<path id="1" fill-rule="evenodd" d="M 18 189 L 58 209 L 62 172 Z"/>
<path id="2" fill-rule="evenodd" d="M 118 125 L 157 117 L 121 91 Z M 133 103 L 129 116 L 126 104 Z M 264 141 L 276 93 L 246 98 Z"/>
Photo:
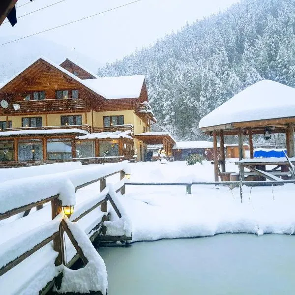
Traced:
<path id="1" fill-rule="evenodd" d="M 98 252 L 108 295 L 295 294 L 295 236 L 224 234 Z"/>

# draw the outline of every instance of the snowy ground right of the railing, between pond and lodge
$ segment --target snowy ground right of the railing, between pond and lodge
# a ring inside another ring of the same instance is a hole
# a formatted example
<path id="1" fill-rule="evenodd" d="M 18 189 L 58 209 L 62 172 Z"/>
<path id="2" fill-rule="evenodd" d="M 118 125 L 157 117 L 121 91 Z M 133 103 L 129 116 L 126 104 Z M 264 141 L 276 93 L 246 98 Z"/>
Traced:
<path id="1" fill-rule="evenodd" d="M 213 180 L 213 165 L 204 162 L 186 166 L 183 161 L 134 163 L 132 182 L 177 182 Z M 227 163 L 228 171 L 236 165 Z M 239 189 L 228 186 L 194 185 L 192 194 L 185 186 L 126 186 L 121 197 L 132 225 L 133 241 L 160 238 L 212 236 L 219 233 L 292 234 L 295 231 L 295 185 L 243 186 L 243 203 Z"/>

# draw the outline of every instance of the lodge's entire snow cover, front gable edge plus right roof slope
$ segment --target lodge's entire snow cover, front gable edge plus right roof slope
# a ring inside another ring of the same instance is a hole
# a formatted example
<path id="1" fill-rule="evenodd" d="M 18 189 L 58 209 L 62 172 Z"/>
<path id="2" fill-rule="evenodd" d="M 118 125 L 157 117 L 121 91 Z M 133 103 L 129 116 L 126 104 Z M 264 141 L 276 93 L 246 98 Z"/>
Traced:
<path id="1" fill-rule="evenodd" d="M 33 63 L 35 63 L 39 59 L 43 59 L 44 61 L 48 62 L 49 64 L 51 64 L 55 68 L 59 69 L 60 71 L 62 71 L 66 75 L 68 75 L 71 78 L 73 78 L 74 80 L 76 80 L 77 82 L 83 84 L 88 89 L 103 96 L 106 99 L 138 98 L 140 96 L 140 92 L 141 92 L 141 89 L 143 87 L 143 83 L 145 80 L 144 75 L 106 77 L 106 78 L 105 77 L 103 77 L 103 78 L 98 77 L 96 79 L 80 79 L 79 77 L 70 73 L 69 71 L 67 71 L 63 67 L 59 66 L 55 62 L 51 61 L 50 59 L 47 59 L 47 58 L 41 56 L 41 57 L 33 60 L 23 70 L 21 70 L 19 73 L 14 75 L 8 82 L 5 83 L 5 85 L 8 84 L 9 82 L 11 82 L 13 79 L 15 79 L 18 75 L 20 75 L 23 71 L 25 71 L 29 66 L 31 66 Z M 78 66 L 80 66 L 80 65 L 78 65 Z"/>

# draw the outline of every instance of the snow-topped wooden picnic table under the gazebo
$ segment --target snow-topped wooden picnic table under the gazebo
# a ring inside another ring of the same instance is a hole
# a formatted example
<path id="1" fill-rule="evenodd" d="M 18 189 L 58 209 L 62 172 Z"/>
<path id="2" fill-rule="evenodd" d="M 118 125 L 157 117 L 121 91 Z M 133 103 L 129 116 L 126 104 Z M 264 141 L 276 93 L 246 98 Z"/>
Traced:
<path id="1" fill-rule="evenodd" d="M 295 157 L 289 158 L 292 164 L 295 164 Z M 289 172 L 288 166 L 289 161 L 287 158 L 254 158 L 254 159 L 242 159 L 235 162 L 239 165 L 240 177 L 244 176 L 254 176 L 256 178 L 263 178 L 261 180 L 277 180 L 288 178 L 291 174 Z M 275 166 L 272 169 L 266 169 L 268 166 Z M 250 170 L 249 172 L 244 172 L 244 169 Z M 282 178 L 281 178 L 282 177 Z M 259 179 L 260 180 L 260 179 Z"/>

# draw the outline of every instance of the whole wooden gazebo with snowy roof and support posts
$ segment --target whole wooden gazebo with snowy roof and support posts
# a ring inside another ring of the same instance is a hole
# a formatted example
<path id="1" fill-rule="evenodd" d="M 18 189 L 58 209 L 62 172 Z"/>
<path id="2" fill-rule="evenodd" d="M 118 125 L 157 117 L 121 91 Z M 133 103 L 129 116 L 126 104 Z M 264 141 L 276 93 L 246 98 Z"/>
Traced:
<path id="1" fill-rule="evenodd" d="M 250 158 L 253 158 L 253 134 L 286 133 L 287 154 L 294 157 L 294 123 L 295 89 L 270 80 L 242 90 L 202 118 L 200 129 L 213 136 L 215 181 L 218 181 L 218 164 L 221 164 L 221 172 L 226 172 L 225 135 L 238 136 L 239 160 L 242 160 L 245 136 L 249 139 Z M 220 159 L 217 136 L 220 136 Z"/>

